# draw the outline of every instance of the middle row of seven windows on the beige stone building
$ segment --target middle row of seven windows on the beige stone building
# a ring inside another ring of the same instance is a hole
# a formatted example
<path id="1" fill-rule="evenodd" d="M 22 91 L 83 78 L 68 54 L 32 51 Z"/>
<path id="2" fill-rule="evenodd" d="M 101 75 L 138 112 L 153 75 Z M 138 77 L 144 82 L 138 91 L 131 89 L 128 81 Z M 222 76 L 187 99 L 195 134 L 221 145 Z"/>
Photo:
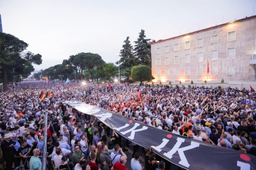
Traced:
<path id="1" fill-rule="evenodd" d="M 236 58 L 236 48 L 228 48 L 227 50 L 227 59 L 235 59 Z M 211 51 L 211 60 L 218 60 L 218 50 L 212 50 Z M 204 56 L 203 52 L 197 53 L 196 61 L 197 62 L 203 62 Z M 190 54 L 185 55 L 185 63 L 188 63 L 191 61 Z M 180 59 L 179 55 L 174 56 L 174 64 L 179 64 Z M 170 57 L 165 57 L 165 65 L 170 64 Z M 157 66 L 161 66 L 161 59 L 157 59 Z"/>

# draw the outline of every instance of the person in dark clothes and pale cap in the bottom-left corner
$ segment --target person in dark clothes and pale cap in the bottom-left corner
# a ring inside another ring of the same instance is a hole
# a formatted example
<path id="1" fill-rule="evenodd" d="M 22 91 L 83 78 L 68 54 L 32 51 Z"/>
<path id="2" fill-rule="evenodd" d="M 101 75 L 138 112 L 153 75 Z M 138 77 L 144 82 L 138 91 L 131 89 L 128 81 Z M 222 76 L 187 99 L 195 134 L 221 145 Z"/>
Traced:
<path id="1" fill-rule="evenodd" d="M 3 159 L 6 162 L 6 169 L 12 169 L 14 154 L 16 152 L 12 141 L 12 134 L 4 134 L 4 140 L 1 143 L 1 150 L 3 151 Z"/>

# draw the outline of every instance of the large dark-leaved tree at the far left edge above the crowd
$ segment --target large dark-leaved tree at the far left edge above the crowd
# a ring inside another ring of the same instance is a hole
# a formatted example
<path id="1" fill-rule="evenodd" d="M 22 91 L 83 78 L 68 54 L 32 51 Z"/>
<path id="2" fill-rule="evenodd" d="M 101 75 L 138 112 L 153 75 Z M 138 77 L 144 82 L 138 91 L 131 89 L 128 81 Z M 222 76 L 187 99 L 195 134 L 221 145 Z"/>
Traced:
<path id="1" fill-rule="evenodd" d="M 7 73 L 13 67 L 12 73 L 15 73 L 15 64 L 20 59 L 24 59 L 29 64 L 42 64 L 42 56 L 40 54 L 34 55 L 34 53 L 26 52 L 24 50 L 28 47 L 28 44 L 24 41 L 16 38 L 11 34 L 5 34 L 0 32 L 0 66 L 3 73 L 3 90 L 8 90 Z M 9 70 L 9 71 L 8 71 Z M 33 70 L 33 69 L 31 69 Z"/>

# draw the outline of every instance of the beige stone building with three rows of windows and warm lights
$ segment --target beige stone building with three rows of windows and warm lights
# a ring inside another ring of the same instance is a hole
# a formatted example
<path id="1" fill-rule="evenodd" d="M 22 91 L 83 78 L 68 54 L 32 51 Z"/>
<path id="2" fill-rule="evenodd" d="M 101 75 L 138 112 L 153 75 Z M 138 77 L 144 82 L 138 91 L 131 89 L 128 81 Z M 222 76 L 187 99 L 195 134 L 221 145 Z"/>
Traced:
<path id="1" fill-rule="evenodd" d="M 154 82 L 255 80 L 255 40 L 253 16 L 152 43 Z"/>

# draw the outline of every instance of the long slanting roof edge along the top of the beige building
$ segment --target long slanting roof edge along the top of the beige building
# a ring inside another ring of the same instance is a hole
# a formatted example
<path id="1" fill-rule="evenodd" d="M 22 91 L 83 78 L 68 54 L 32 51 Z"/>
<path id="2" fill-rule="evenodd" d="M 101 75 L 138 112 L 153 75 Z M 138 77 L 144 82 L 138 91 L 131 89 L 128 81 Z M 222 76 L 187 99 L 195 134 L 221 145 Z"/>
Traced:
<path id="1" fill-rule="evenodd" d="M 224 27 L 226 25 L 231 25 L 231 24 L 236 24 L 238 22 L 244 22 L 246 20 L 251 20 L 253 18 L 256 18 L 256 15 L 253 15 L 252 17 L 245 17 L 245 18 L 242 18 L 240 20 L 234 20 L 232 22 L 227 22 L 225 24 L 220 24 L 220 25 L 215 25 L 213 27 L 209 27 L 209 28 L 206 28 L 206 29 L 201 29 L 201 30 L 198 30 L 198 31 L 194 31 L 194 32 L 189 32 L 188 34 L 182 34 L 180 36 L 175 36 L 175 37 L 172 37 L 172 38 L 168 38 L 168 39 L 161 39 L 159 41 L 156 41 L 155 43 L 150 43 L 150 45 L 154 45 L 154 44 L 157 44 L 157 43 L 162 43 L 163 41 L 169 41 L 169 40 L 172 40 L 172 39 L 177 39 L 177 38 L 182 38 L 184 36 L 188 36 L 188 35 L 192 35 L 192 34 L 198 34 L 200 32 L 205 32 L 205 31 L 209 31 L 211 29 L 216 29 L 216 28 L 219 28 L 219 27 Z"/>

